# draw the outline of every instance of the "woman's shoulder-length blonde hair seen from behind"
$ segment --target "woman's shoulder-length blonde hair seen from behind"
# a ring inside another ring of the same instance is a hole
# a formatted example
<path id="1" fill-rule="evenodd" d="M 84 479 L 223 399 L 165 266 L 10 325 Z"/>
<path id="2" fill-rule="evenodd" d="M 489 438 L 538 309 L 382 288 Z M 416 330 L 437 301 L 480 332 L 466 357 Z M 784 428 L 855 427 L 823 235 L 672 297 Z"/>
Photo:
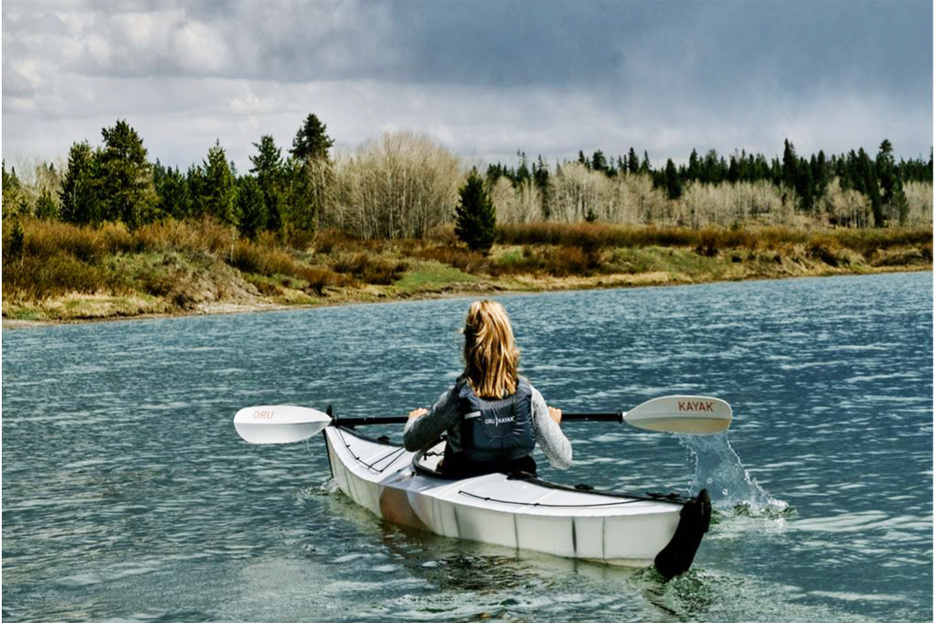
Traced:
<path id="1" fill-rule="evenodd" d="M 515 393 L 519 349 L 506 310 L 496 301 L 475 301 L 464 323 L 464 376 L 483 398 Z"/>

